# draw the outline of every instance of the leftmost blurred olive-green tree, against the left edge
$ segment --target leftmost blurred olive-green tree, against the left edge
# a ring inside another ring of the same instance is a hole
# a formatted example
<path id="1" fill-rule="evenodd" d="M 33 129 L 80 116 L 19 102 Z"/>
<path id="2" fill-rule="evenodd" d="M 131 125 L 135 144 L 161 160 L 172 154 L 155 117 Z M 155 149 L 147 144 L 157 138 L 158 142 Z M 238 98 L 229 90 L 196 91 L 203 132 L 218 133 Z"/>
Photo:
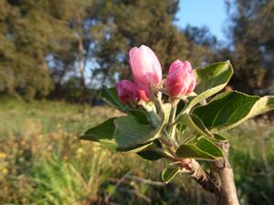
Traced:
<path id="1" fill-rule="evenodd" d="M 56 49 L 64 26 L 44 1 L 1 1 L 0 90 L 26 97 L 45 96 L 53 88 L 46 56 Z"/>

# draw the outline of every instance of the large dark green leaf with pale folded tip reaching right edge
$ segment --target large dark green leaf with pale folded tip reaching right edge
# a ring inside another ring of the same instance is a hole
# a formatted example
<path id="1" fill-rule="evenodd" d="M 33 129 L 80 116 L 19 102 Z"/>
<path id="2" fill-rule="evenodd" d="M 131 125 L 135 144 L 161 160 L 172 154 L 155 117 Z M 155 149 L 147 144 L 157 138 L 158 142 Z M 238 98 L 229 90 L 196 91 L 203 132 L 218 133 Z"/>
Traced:
<path id="1" fill-rule="evenodd" d="M 274 97 L 248 96 L 237 91 L 229 91 L 213 98 L 205 106 L 194 109 L 206 128 L 216 132 L 234 128 L 248 118 L 274 109 Z"/>

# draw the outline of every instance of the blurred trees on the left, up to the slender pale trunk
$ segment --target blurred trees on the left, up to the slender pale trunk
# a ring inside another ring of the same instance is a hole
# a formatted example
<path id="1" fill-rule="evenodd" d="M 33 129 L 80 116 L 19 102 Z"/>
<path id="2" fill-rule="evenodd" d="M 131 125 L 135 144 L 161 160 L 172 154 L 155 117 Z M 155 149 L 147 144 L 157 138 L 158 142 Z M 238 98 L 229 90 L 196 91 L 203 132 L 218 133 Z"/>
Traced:
<path id="1" fill-rule="evenodd" d="M 0 92 L 43 97 L 54 84 L 58 89 L 76 61 L 84 59 L 80 26 L 91 3 L 1 1 Z M 82 81 L 83 67 L 77 70 Z"/>

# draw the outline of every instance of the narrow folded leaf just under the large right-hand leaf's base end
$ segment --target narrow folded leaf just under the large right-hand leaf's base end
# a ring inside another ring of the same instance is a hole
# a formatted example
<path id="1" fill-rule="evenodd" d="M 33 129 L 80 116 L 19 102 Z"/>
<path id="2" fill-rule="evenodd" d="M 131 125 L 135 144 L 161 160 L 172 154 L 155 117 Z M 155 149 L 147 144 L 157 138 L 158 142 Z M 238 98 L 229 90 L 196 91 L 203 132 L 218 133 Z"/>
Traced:
<path id="1" fill-rule="evenodd" d="M 186 126 L 189 126 L 190 128 L 193 128 L 200 135 L 205 135 L 207 137 L 213 137 L 213 135 L 205 127 L 203 121 L 193 114 L 184 113 L 183 115 L 180 115 L 176 119 L 175 123 L 176 124 L 184 124 Z"/>

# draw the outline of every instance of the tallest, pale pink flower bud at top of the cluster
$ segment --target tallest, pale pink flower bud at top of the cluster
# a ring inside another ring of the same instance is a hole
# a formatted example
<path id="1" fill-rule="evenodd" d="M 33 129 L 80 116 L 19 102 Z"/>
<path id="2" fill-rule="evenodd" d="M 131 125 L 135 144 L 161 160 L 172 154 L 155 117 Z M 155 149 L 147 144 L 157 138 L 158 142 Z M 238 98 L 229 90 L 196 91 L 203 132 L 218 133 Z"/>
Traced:
<path id="1" fill-rule="evenodd" d="M 153 50 L 148 46 L 132 47 L 130 51 L 130 66 L 136 84 L 149 88 L 162 80 L 162 67 Z"/>

